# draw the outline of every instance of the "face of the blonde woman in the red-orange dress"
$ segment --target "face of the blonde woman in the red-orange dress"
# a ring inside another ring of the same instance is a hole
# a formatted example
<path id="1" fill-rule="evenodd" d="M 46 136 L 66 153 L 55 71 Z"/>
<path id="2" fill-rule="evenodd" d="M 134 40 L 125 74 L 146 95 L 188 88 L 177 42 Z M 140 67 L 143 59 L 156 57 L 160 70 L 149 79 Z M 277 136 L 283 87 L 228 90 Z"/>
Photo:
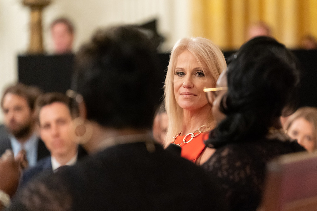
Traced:
<path id="1" fill-rule="evenodd" d="M 211 87 L 214 79 L 204 69 L 188 50 L 177 57 L 173 84 L 176 102 L 182 109 L 210 107 L 203 89 Z"/>

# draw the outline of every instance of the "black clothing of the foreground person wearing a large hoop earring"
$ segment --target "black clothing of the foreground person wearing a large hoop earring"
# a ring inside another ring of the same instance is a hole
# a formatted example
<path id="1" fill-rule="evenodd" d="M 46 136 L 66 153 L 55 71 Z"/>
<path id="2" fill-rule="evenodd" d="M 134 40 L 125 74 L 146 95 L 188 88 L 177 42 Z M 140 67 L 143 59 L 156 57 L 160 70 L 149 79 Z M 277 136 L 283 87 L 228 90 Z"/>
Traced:
<path id="1" fill-rule="evenodd" d="M 9 210 L 225 210 L 225 206 L 216 185 L 195 164 L 159 144 L 136 142 L 111 146 L 28 183 Z"/>

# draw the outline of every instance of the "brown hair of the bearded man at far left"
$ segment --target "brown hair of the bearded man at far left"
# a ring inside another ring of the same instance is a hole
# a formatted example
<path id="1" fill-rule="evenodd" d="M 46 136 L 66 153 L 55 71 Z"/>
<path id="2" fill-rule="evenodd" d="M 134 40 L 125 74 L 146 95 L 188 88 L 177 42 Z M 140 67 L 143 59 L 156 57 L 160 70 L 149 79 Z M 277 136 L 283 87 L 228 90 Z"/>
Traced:
<path id="1" fill-rule="evenodd" d="M 3 108 L 3 99 L 6 94 L 14 94 L 25 98 L 28 102 L 31 111 L 35 109 L 36 98 L 42 93 L 42 91 L 35 86 L 28 86 L 22 83 L 17 83 L 8 86 L 4 91 L 1 98 L 1 107 Z"/>

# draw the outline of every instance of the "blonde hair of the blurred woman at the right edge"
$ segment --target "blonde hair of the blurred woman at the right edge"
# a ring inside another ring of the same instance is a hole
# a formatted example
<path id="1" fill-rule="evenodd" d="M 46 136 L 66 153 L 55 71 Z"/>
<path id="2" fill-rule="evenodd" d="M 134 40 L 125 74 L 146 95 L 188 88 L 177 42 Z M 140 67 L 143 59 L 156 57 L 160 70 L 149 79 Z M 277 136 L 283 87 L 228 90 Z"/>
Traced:
<path id="1" fill-rule="evenodd" d="M 313 134 L 315 140 L 315 149 L 317 148 L 317 108 L 315 107 L 301 107 L 296 112 L 290 115 L 284 124 L 284 130 L 288 130 L 293 122 L 299 118 L 304 118 L 313 125 Z"/>

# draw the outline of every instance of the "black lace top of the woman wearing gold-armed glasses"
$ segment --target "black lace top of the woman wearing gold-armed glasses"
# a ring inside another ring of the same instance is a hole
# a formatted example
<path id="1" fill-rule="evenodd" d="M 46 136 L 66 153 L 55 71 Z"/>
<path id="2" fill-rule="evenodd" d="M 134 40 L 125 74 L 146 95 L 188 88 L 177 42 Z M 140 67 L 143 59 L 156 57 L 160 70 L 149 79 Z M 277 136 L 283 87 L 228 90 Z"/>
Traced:
<path id="1" fill-rule="evenodd" d="M 210 140 L 206 140 L 208 146 Z M 216 177 L 226 194 L 230 210 L 256 210 L 261 200 L 266 164 L 271 159 L 305 150 L 296 141 L 263 138 L 242 143 L 227 143 L 202 167 Z"/>

